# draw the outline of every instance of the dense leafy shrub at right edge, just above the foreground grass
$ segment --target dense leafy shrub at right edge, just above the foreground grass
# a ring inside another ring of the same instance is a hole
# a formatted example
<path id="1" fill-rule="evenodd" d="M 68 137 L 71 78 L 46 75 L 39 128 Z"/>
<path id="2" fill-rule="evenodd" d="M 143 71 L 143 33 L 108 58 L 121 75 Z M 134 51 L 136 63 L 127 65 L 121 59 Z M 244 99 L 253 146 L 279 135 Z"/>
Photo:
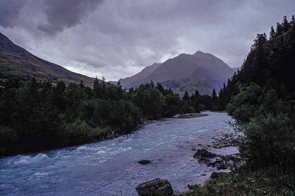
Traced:
<path id="1" fill-rule="evenodd" d="M 248 164 L 295 171 L 295 124 L 286 114 L 259 115 L 236 128 L 244 134 L 239 148 Z"/>

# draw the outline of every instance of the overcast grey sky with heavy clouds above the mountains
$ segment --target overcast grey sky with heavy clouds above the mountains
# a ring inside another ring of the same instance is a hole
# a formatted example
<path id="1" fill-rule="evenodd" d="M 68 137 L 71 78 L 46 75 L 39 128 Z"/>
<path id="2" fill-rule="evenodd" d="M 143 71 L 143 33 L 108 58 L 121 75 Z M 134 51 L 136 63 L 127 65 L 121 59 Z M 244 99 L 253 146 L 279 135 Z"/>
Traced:
<path id="1" fill-rule="evenodd" d="M 71 71 L 118 80 L 198 50 L 239 67 L 295 0 L 0 0 L 0 32 Z"/>

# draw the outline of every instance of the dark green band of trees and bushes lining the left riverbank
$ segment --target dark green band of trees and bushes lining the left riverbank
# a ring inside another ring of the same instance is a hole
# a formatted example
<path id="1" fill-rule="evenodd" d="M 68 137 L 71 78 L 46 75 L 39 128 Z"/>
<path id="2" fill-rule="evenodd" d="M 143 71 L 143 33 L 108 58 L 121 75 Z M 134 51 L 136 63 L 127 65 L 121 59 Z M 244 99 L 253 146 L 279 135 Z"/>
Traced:
<path id="1" fill-rule="evenodd" d="M 93 88 L 29 77 L 0 85 L 0 155 L 116 137 L 146 119 L 200 110 L 196 96 L 181 100 L 152 82 L 129 92 L 98 79 Z"/>

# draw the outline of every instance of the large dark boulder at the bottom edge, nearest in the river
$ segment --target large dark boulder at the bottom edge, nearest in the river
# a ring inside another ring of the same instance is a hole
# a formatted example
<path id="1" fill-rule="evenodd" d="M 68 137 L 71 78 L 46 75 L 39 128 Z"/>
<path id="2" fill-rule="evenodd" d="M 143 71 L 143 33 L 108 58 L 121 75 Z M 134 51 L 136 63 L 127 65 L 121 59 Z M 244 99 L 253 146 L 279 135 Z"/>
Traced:
<path id="1" fill-rule="evenodd" d="M 173 196 L 174 194 L 170 182 L 161 178 L 144 182 L 135 189 L 139 196 Z"/>

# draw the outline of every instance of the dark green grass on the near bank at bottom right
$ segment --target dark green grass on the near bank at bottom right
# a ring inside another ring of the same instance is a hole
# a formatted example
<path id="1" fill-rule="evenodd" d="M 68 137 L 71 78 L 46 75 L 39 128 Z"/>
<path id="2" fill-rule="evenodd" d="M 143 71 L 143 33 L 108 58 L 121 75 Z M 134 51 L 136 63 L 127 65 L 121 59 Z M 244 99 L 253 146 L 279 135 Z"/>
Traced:
<path id="1" fill-rule="evenodd" d="M 256 172 L 241 168 L 177 196 L 295 196 L 295 175 L 274 168 Z"/>

